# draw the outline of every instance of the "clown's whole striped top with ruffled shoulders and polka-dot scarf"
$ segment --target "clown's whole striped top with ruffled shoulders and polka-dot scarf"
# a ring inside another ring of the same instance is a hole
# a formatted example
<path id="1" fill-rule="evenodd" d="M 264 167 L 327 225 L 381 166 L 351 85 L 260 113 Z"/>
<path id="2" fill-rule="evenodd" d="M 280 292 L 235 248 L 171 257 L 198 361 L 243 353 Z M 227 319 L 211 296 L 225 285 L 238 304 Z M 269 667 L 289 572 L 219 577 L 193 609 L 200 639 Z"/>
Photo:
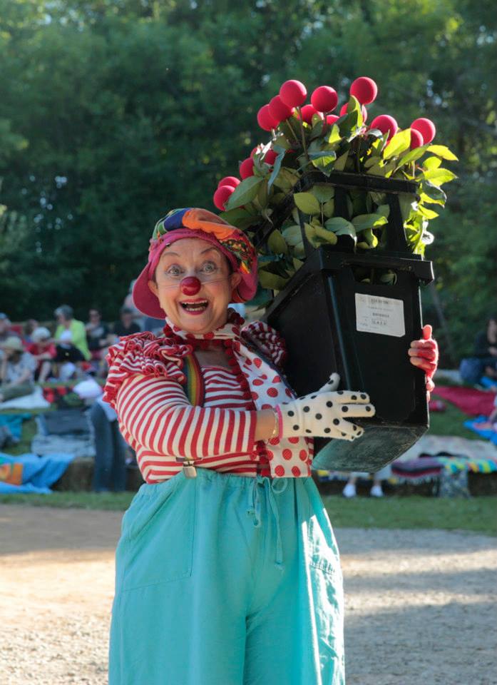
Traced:
<path id="1" fill-rule="evenodd" d="M 255 442 L 257 411 L 293 397 L 275 367 L 250 347 L 257 340 L 272 364 L 279 365 L 285 348 L 277 333 L 261 322 L 240 331 L 236 322 L 228 321 L 205 334 L 206 340 L 217 339 L 225 347 L 230 370 L 202 370 L 204 397 L 198 406 L 190 404 L 183 385 L 188 381 L 183 360 L 198 342 L 188 333 L 177 335 L 170 326 L 164 331 L 161 338 L 151 333 L 121 338 L 107 355 L 104 399 L 118 413 L 121 432 L 136 452 L 145 481 L 168 480 L 183 467 L 178 459 L 185 458 L 238 475 L 308 477 L 311 438 Z"/>

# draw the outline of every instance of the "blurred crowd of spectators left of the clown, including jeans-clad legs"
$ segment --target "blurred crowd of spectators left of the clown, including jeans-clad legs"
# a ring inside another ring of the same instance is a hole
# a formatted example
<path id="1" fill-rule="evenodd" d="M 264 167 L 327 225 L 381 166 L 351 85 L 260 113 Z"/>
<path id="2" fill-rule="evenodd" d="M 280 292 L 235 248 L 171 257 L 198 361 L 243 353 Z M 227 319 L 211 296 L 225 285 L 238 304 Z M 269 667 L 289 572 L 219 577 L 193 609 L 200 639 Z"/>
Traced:
<path id="1" fill-rule="evenodd" d="M 89 405 L 88 427 L 95 449 L 93 489 L 121 492 L 134 454 L 121 436 L 116 412 L 102 398 L 106 353 L 123 336 L 145 328 L 157 332 L 162 322 L 143 318 L 128 298 L 114 323 L 104 322 L 96 307 L 88 311 L 86 323 L 75 318 L 69 305 L 58 306 L 53 314 L 53 321 L 41 325 L 35 319 L 13 324 L 6 313 L 0 313 L 0 408 L 2 402 L 15 398 L 29 400 L 36 385 L 72 387 Z"/>

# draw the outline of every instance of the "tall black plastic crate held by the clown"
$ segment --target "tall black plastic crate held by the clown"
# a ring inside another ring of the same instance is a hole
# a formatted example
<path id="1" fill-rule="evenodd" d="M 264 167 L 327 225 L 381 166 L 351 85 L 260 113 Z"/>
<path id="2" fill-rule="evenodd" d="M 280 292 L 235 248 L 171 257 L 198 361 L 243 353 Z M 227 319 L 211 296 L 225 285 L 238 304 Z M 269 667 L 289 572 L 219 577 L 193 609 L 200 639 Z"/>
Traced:
<path id="1" fill-rule="evenodd" d="M 317 249 L 307 243 L 304 265 L 265 315 L 287 343 L 285 372 L 298 395 L 317 390 L 337 371 L 342 390 L 368 392 L 376 408 L 371 419 L 354 419 L 366 429 L 359 440 L 318 438 L 314 468 L 375 472 L 409 449 L 429 427 L 424 371 L 411 365 L 407 351 L 411 340 L 421 338 L 419 285 L 433 280 L 433 270 L 431 262 L 409 252 L 398 201 L 398 193 L 413 193 L 416 187 L 356 174 L 309 176 L 299 182 L 298 191 L 313 183 L 332 183 L 337 200 L 344 187 L 362 183 L 364 191 L 389 193 L 388 250 L 356 254 L 339 251 L 341 246 L 350 248 L 347 241 Z M 292 203 L 287 201 L 273 229 L 279 228 L 289 208 Z M 262 226 L 262 232 L 267 239 L 270 227 Z M 396 282 L 361 283 L 354 276 L 357 268 L 391 270 Z"/>

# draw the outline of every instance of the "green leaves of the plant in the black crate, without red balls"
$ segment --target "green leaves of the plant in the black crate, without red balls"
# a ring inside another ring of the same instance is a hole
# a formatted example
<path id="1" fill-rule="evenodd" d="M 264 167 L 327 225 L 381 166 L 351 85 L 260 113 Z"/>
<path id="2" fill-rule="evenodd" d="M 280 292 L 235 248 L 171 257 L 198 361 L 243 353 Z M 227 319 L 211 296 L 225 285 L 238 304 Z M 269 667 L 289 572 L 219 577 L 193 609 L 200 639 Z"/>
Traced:
<path id="1" fill-rule="evenodd" d="M 294 125 L 299 126 L 300 138 L 294 132 Z M 404 229 L 406 232 L 407 245 L 417 255 L 424 255 L 426 245 L 433 243 L 434 235 L 429 233 L 429 221 L 437 218 L 439 213 L 427 207 L 427 204 L 439 204 L 444 206 L 446 196 L 441 187 L 444 183 L 454 181 L 456 175 L 449 169 L 441 168 L 442 159 L 457 158 L 449 148 L 441 145 L 428 143 L 420 149 L 407 152 L 411 146 L 411 129 L 399 131 L 391 140 L 388 133 L 382 133 L 376 128 L 368 129 L 364 126 L 362 108 L 357 98 L 351 96 L 347 103 L 347 111 L 344 112 L 334 124 L 326 123 L 318 114 L 312 117 L 312 125 L 302 118 L 300 108 L 294 111 L 286 121 L 280 122 L 271 134 L 269 143 L 260 143 L 253 156 L 254 176 L 245 178 L 240 186 L 230 196 L 226 203 L 227 210 L 244 207 L 252 215 L 259 215 L 260 222 L 272 221 L 272 215 L 280 213 L 283 205 L 290 213 L 291 205 L 287 196 L 274 193 L 272 187 L 282 186 L 287 194 L 292 195 L 294 206 L 307 216 L 305 223 L 305 235 L 307 242 L 314 248 L 324 244 L 336 244 L 337 235 L 329 232 L 324 218 L 334 215 L 334 187 L 317 184 L 316 188 L 309 191 L 294 191 L 294 185 L 290 181 L 304 178 L 307 172 L 313 168 L 321 171 L 324 176 L 330 176 L 332 171 L 346 171 L 347 173 L 370 174 L 401 181 L 413 181 L 416 184 L 417 193 L 404 196 Z M 267 151 L 273 148 L 277 153 L 273 168 L 265 163 Z M 288 154 L 288 153 L 293 154 Z M 431 157 L 424 160 L 425 154 Z M 295 158 L 298 168 L 294 170 Z M 285 176 L 285 171 L 287 175 Z M 281 178 L 281 183 L 279 179 Z M 349 235 L 353 240 L 354 250 L 372 250 L 383 248 L 386 241 L 384 226 L 388 219 L 384 210 L 386 196 L 384 193 L 367 193 L 367 191 L 351 190 L 346 196 L 349 208 L 347 218 L 352 221 L 347 229 L 342 227 L 339 235 Z M 408 204 L 406 205 L 406 201 Z M 326 204 L 326 208 L 324 205 Z M 367 213 L 366 213 L 367 212 Z M 341 217 L 337 217 L 341 218 Z M 294 218 L 302 221 L 302 218 Z M 242 223 L 245 221 L 241 220 Z M 280 219 L 278 225 L 282 225 L 285 218 Z M 235 225 L 242 228 L 242 223 Z M 360 240 L 357 234 L 361 233 Z M 283 240 L 284 238 L 283 234 Z M 275 250 L 274 246 L 267 245 L 269 254 L 282 255 L 290 253 L 299 258 L 304 257 L 304 245 L 298 243 L 288 245 L 287 250 Z M 292 250 L 294 248 L 294 250 Z M 341 249 L 339 245 L 338 249 Z M 260 246 L 260 254 L 266 255 L 264 246 Z M 262 278 L 268 282 L 266 268 L 262 269 Z M 272 283 L 287 283 L 286 276 L 292 275 L 294 270 L 285 273 L 285 280 L 270 278 Z M 382 274 L 385 275 L 385 274 Z M 381 278 L 381 275 L 378 274 Z M 280 288 L 273 288 L 280 290 Z"/>

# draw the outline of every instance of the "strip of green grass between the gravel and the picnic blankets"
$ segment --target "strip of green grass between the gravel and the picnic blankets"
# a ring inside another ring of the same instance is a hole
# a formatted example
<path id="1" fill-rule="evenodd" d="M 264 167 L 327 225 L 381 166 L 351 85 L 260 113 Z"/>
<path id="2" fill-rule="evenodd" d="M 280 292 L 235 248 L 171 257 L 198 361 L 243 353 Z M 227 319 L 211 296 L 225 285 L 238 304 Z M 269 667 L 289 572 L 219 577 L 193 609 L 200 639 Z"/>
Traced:
<path id="1" fill-rule="evenodd" d="M 0 496 L 0 504 L 124 511 L 132 498 L 132 492 L 4 494 Z M 327 495 L 323 499 L 329 518 L 337 528 L 438 528 L 497 535 L 496 497 L 438 499 L 412 495 L 344 499 L 339 495 Z"/>

